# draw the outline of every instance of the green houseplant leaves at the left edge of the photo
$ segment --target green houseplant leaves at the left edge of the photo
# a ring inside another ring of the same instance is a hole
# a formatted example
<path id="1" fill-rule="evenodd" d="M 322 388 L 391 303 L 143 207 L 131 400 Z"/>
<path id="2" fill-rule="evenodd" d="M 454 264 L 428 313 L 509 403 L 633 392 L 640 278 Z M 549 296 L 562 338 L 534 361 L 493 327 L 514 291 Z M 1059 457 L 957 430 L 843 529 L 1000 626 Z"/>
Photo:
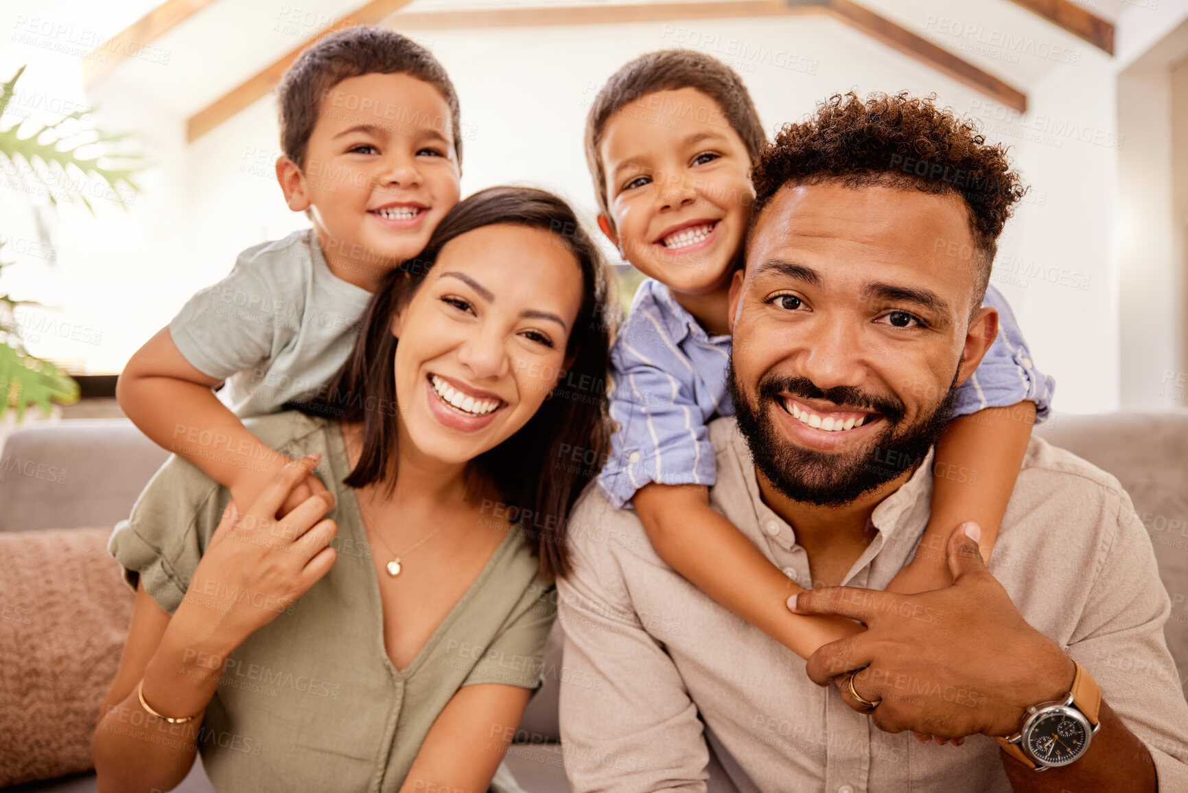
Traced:
<path id="1" fill-rule="evenodd" d="M 12 101 L 17 81 L 25 67 L 0 87 L 0 117 Z M 18 172 L 20 178 L 34 180 L 44 188 L 52 207 L 59 197 L 81 201 L 94 214 L 86 190 L 89 180 L 100 178 L 110 187 L 121 206 L 126 206 L 118 185 L 139 191 L 132 175 L 144 169 L 140 158 L 118 152 L 116 144 L 126 136 L 110 134 L 89 124 L 90 109 L 76 111 L 46 124 L 32 134 L 20 136 L 25 119 L 8 127 L 0 127 L 0 165 Z M 2 229 L 0 229 L 2 231 Z M 4 240 L 0 240 L 0 272 L 15 264 L 6 262 Z M 78 384 L 48 360 L 29 354 L 21 341 L 17 308 L 34 304 L 18 301 L 0 288 L 0 417 L 8 408 L 17 411 L 17 421 L 25 408 L 36 404 L 46 414 L 51 403 L 70 404 L 78 399 Z"/>

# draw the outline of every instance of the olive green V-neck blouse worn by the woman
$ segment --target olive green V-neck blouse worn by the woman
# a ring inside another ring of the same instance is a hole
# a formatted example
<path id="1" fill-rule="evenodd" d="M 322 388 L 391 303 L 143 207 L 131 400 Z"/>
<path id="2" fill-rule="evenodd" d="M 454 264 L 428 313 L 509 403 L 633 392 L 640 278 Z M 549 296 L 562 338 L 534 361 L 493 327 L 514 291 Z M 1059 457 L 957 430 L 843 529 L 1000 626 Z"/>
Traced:
<path id="1" fill-rule="evenodd" d="M 398 791 L 429 728 L 462 686 L 535 688 L 556 612 L 550 581 L 511 531 L 412 663 L 398 671 L 384 646 L 379 583 L 339 424 L 296 411 L 248 428 L 292 458 L 323 457 L 337 497 L 330 572 L 223 662 L 198 736 L 202 762 L 223 791 Z M 213 454 L 220 453 L 211 448 Z M 112 535 L 108 550 L 135 586 L 170 612 L 183 597 L 210 608 L 264 603 L 259 593 L 206 587 L 190 578 L 230 501 L 196 466 L 172 457 Z M 211 591 L 208 591 L 211 590 Z M 500 769 L 493 789 L 507 778 Z M 506 789 L 506 787 L 504 788 Z M 511 789 L 516 789 L 512 786 Z"/>

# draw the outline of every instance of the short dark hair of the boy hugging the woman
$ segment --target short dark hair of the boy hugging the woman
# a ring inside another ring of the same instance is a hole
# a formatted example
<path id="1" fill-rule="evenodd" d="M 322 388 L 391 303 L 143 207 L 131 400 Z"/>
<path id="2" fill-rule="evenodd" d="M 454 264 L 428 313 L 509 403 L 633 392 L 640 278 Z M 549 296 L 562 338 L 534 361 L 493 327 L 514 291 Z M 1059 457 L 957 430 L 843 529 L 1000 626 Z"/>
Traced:
<path id="1" fill-rule="evenodd" d="M 359 25 L 323 36 L 297 56 L 280 78 L 280 150 L 297 168 L 305 168 L 305 147 L 327 92 L 343 80 L 369 74 L 406 74 L 436 88 L 449 105 L 454 152 L 462 164 L 461 113 L 446 68 L 411 38 Z"/>

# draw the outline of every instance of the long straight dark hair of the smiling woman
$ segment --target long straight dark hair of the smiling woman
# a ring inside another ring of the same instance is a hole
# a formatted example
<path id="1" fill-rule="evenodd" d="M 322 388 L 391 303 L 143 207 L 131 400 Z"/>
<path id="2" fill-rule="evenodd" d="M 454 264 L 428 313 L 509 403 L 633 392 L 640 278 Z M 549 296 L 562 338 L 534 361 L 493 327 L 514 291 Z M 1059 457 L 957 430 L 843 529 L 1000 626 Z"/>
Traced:
<path id="1" fill-rule="evenodd" d="M 525 539 L 548 575 L 569 572 L 567 520 L 607 451 L 606 401 L 611 327 L 605 321 L 609 283 L 594 241 L 562 199 L 545 190 L 493 187 L 450 209 L 416 259 L 392 270 L 372 297 L 355 347 L 330 383 L 310 402 L 286 404 L 310 415 L 362 423 L 362 453 L 350 476 L 352 487 L 387 480 L 396 486 L 396 346 L 392 319 L 412 298 L 432 270 L 442 247 L 467 232 L 511 224 L 550 232 L 556 245 L 573 253 L 582 273 L 582 306 L 565 346 L 573 365 L 560 372 L 552 396 L 519 432 L 472 462 L 495 485 L 510 520 L 523 520 Z"/>

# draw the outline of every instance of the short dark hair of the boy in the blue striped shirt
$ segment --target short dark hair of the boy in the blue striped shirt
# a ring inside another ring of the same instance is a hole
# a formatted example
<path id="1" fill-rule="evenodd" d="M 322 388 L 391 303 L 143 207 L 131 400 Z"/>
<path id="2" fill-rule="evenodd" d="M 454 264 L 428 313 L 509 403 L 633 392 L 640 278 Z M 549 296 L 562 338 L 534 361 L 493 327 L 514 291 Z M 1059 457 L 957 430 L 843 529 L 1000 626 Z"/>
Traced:
<path id="1" fill-rule="evenodd" d="M 727 124 L 742 139 L 751 162 L 767 139 L 751 94 L 733 69 L 695 50 L 658 50 L 642 55 L 615 71 L 594 97 L 586 117 L 586 164 L 594 177 L 599 210 L 613 227 L 602 165 L 602 132 L 612 115 L 638 99 L 662 90 L 694 88 L 718 103 Z"/>

